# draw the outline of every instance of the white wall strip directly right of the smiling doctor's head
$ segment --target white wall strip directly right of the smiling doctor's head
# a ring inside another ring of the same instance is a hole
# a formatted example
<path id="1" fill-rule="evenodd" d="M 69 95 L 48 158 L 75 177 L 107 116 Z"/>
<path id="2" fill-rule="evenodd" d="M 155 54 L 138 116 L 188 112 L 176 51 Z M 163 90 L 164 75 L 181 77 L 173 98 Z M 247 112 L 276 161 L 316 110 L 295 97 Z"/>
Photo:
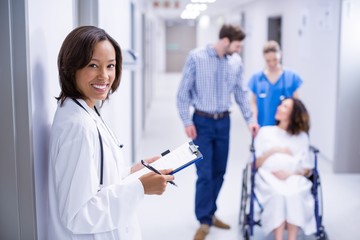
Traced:
<path id="1" fill-rule="evenodd" d="M 131 29 L 130 9 L 132 2 L 135 6 L 135 29 Z M 135 51 L 138 64 L 135 68 L 123 68 L 120 87 L 110 96 L 110 101 L 106 102 L 102 108 L 105 121 L 114 131 L 120 143 L 124 145 L 125 159 L 129 163 L 140 160 L 136 156 L 138 151 L 132 152 L 132 148 L 135 150 L 141 148 L 139 140 L 142 135 L 143 115 L 141 109 L 144 96 L 142 96 L 141 84 L 143 53 L 140 50 L 143 37 L 141 31 L 141 14 L 143 11 L 144 6 L 139 1 L 99 1 L 99 27 L 105 29 L 120 44 L 123 51 L 131 49 L 131 31 L 135 31 Z M 134 79 L 131 78 L 131 71 L 134 71 Z M 134 133 L 132 133 L 132 127 L 134 127 Z"/>

